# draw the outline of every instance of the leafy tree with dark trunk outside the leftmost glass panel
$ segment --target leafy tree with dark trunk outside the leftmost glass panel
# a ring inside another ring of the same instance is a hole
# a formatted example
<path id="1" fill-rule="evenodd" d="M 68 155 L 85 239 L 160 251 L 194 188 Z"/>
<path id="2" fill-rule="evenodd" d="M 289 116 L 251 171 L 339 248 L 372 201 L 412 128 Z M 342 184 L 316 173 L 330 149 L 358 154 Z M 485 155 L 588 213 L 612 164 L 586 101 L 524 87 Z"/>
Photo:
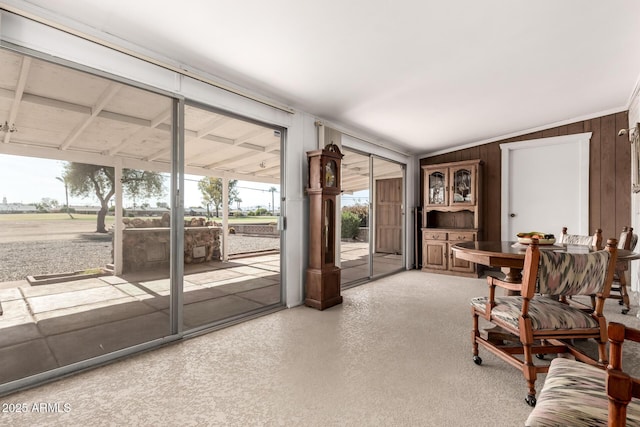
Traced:
<path id="1" fill-rule="evenodd" d="M 115 170 L 109 166 L 86 163 L 66 163 L 64 181 L 74 196 L 95 195 L 100 201 L 100 211 L 96 231 L 106 233 L 105 217 L 109 211 L 109 201 L 116 192 Z M 130 197 L 162 197 L 164 195 L 163 178 L 157 172 L 135 169 L 122 170 L 123 192 Z"/>

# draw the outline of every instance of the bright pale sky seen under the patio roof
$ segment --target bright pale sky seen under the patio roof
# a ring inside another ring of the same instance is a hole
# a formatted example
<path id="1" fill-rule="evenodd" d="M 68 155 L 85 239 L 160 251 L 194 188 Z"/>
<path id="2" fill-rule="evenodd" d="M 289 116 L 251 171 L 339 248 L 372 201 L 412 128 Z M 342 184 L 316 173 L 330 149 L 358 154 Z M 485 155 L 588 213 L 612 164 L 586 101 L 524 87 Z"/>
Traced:
<path id="1" fill-rule="evenodd" d="M 62 176 L 63 165 L 60 160 L 40 159 L 34 157 L 21 157 L 0 154 L 0 202 L 6 197 L 7 203 L 34 204 L 42 201 L 43 198 L 57 200 L 60 205 L 64 205 L 65 191 L 64 184 L 56 179 Z M 202 206 L 202 195 L 198 189 L 198 179 L 200 177 L 185 176 L 185 207 Z M 246 210 L 262 206 L 271 208 L 271 192 L 269 188 L 276 187 L 278 191 L 274 194 L 276 208 L 280 206 L 280 186 L 264 184 L 258 182 L 239 181 L 237 187 L 240 190 L 240 208 Z M 168 182 L 165 199 L 168 202 Z M 151 206 L 155 206 L 156 198 L 148 200 Z M 139 205 L 143 201 L 136 201 Z M 94 197 L 79 198 L 69 195 L 69 204 L 74 205 L 97 205 L 98 199 Z M 130 207 L 131 200 L 125 199 L 125 207 Z M 236 208 L 236 204 L 232 208 Z"/>

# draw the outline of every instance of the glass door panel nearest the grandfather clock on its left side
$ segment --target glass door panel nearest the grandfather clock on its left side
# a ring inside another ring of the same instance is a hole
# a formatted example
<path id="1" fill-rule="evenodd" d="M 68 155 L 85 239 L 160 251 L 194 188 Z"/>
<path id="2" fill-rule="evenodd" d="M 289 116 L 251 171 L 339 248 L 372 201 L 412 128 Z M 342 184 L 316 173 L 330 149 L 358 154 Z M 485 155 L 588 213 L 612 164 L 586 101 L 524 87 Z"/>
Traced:
<path id="1" fill-rule="evenodd" d="M 282 303 L 282 132 L 193 105 L 185 127 L 183 313 L 193 330 Z"/>

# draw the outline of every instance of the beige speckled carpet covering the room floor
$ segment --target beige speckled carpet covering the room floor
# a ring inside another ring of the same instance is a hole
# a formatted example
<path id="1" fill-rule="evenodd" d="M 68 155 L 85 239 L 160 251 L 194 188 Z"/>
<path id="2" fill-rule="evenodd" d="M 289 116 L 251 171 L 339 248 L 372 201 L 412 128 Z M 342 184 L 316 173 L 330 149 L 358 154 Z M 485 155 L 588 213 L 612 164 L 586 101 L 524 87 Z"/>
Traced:
<path id="1" fill-rule="evenodd" d="M 482 366 L 471 359 L 469 298 L 485 292 L 484 279 L 404 272 L 349 289 L 324 312 L 283 310 L 5 396 L 0 422 L 523 425 L 522 374 L 482 349 Z M 637 307 L 622 316 L 610 302 L 612 317 L 640 326 Z M 62 412 L 34 412 L 42 403 Z M 12 404 L 26 413 L 6 413 Z"/>

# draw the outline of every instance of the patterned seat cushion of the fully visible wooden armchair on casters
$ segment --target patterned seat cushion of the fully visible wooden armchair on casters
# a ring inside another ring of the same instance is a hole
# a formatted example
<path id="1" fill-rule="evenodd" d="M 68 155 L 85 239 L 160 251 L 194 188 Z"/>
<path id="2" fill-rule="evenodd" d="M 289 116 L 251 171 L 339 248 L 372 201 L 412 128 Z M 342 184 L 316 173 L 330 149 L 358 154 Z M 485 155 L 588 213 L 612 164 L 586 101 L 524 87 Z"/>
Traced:
<path id="1" fill-rule="evenodd" d="M 487 301 L 487 297 L 473 298 L 471 305 L 486 312 Z M 522 315 L 522 297 L 497 297 L 494 301 L 496 305 L 491 310 L 491 315 L 518 329 L 518 319 Z M 598 322 L 584 311 L 545 296 L 536 296 L 531 300 L 529 317 L 534 331 L 598 327 Z"/>

